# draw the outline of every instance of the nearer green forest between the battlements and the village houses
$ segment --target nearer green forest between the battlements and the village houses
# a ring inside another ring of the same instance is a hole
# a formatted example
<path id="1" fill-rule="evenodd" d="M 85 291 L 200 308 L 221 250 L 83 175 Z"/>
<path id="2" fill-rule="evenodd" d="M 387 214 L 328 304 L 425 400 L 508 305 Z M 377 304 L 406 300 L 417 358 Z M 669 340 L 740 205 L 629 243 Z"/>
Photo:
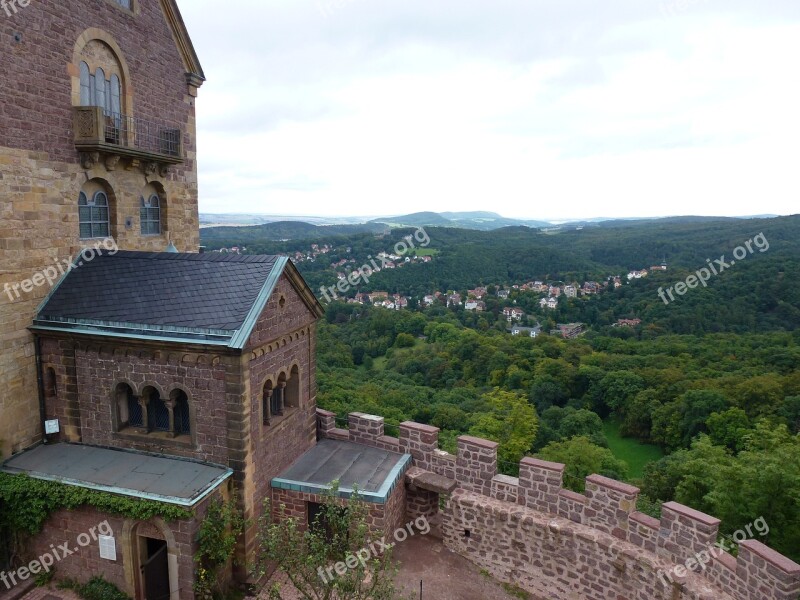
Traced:
<path id="1" fill-rule="evenodd" d="M 654 516 L 677 500 L 731 533 L 758 517 L 770 546 L 800 558 L 800 331 L 578 340 L 465 327 L 444 308 L 388 311 L 331 303 L 319 327 L 318 403 L 389 424 L 500 442 L 502 470 L 525 455 L 567 465 L 582 490 L 600 473 L 642 489 Z M 604 421 L 666 456 L 632 477 Z M 763 541 L 763 540 L 762 540 Z"/>

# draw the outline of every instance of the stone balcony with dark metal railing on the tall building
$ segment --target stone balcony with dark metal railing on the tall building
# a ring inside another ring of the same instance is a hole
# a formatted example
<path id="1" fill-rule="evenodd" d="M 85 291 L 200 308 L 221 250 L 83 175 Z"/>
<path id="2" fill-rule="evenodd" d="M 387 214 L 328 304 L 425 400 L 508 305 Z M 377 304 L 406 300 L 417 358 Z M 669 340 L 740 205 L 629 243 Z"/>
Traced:
<path id="1" fill-rule="evenodd" d="M 124 161 L 128 169 L 164 176 L 170 165 L 183 162 L 183 133 L 173 125 L 107 113 L 99 106 L 73 111 L 75 148 L 84 169 L 103 161 L 113 171 Z"/>

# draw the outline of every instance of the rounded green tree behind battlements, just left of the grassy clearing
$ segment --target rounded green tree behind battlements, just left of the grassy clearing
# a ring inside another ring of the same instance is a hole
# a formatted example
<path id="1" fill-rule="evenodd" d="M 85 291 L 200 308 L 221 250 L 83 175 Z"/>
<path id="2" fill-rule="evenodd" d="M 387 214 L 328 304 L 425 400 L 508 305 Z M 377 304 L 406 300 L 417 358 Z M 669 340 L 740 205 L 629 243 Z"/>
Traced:
<path id="1" fill-rule="evenodd" d="M 608 448 L 592 444 L 583 435 L 548 444 L 539 453 L 539 458 L 564 464 L 564 486 L 576 492 L 584 491 L 589 475 L 604 475 L 618 480 L 624 480 L 628 475 L 627 463 L 615 458 Z"/>

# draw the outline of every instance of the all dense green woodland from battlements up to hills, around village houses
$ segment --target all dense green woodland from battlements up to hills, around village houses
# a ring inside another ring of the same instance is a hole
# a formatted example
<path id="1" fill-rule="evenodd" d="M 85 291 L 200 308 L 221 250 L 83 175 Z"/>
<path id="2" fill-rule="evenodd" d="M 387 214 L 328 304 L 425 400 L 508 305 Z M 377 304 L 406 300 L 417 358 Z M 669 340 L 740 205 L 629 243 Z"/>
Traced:
<path id="1" fill-rule="evenodd" d="M 659 287 L 761 232 L 768 251 L 708 288 L 669 305 L 659 299 Z M 538 296 L 512 294 L 508 302 L 543 324 L 588 326 L 569 341 L 509 335 L 498 299 L 480 314 L 333 302 L 319 327 L 320 406 L 341 416 L 380 414 L 395 425 L 430 423 L 451 451 L 458 435 L 488 437 L 501 443 L 505 472 L 535 454 L 567 464 L 566 484 L 576 490 L 593 472 L 632 481 L 643 492 L 640 508 L 654 515 L 661 502 L 677 500 L 720 517 L 727 533 L 763 517 L 766 542 L 800 559 L 800 218 L 659 221 L 553 236 L 524 228 L 428 233 L 437 260 L 381 273 L 386 279 L 376 278 L 373 289 L 431 293 L 534 278 L 600 280 L 662 257 L 670 270 L 562 300 L 549 314 L 537 313 Z M 387 247 L 373 235 L 347 243 L 353 253 Z M 299 242 L 251 243 L 250 251 L 288 252 L 293 244 Z M 304 266 L 309 279 L 313 266 Z M 622 317 L 643 323 L 610 327 Z M 664 458 L 632 473 L 608 448 L 610 422 L 624 436 L 661 447 Z"/>

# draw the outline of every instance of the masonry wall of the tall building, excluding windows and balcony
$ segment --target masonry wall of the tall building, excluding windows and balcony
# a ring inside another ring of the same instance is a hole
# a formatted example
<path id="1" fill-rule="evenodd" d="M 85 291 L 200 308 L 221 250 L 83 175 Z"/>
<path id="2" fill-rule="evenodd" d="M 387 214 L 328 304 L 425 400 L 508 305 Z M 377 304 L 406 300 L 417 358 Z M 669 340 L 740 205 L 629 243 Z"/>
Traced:
<path id="1" fill-rule="evenodd" d="M 112 1 L 17 6 L 16 13 L 0 18 L 0 289 L 63 264 L 84 247 L 77 201 L 88 180 L 102 181 L 113 192 L 111 229 L 121 249 L 162 250 L 169 235 L 181 251 L 197 251 L 197 90 L 187 85 L 187 66 L 161 2 L 137 0 L 134 13 Z M 130 165 L 108 170 L 105 164 L 80 164 L 72 117 L 80 93 L 77 63 L 81 47 L 98 38 L 112 42 L 127 67 L 128 114 L 174 124 L 184 133 L 184 163 L 166 175 L 145 175 Z M 143 237 L 139 196 L 148 183 L 164 190 L 164 233 Z M 0 296 L 2 455 L 41 435 L 34 346 L 26 328 L 49 291 L 42 285 Z"/>

